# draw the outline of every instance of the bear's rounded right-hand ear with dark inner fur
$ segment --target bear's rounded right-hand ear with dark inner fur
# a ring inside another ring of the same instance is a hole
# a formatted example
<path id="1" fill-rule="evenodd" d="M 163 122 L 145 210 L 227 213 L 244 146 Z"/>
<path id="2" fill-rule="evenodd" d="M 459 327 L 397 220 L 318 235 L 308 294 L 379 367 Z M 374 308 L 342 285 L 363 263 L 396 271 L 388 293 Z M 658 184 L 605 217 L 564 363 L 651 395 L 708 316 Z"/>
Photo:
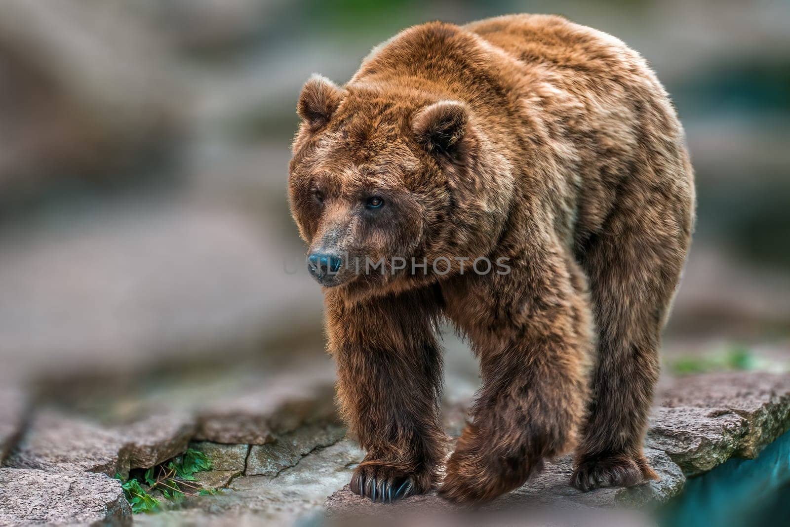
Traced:
<path id="1" fill-rule="evenodd" d="M 440 100 L 412 119 L 414 137 L 428 152 L 454 153 L 468 134 L 469 112 L 463 103 Z"/>

